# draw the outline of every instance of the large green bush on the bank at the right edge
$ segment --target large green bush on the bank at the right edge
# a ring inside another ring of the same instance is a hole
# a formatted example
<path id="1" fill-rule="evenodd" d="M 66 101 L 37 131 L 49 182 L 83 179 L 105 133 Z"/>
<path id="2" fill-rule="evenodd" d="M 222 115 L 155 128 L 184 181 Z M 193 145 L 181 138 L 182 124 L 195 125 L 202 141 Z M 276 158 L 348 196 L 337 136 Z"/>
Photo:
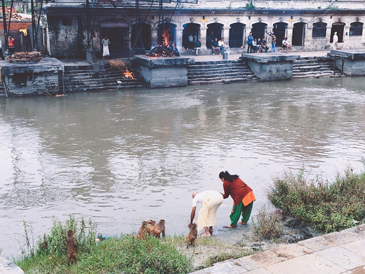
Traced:
<path id="1" fill-rule="evenodd" d="M 320 178 L 306 181 L 304 171 L 284 174 L 274 181 L 268 197 L 284 214 L 326 233 L 365 221 L 365 173 L 354 174 L 352 169 L 331 183 Z"/>

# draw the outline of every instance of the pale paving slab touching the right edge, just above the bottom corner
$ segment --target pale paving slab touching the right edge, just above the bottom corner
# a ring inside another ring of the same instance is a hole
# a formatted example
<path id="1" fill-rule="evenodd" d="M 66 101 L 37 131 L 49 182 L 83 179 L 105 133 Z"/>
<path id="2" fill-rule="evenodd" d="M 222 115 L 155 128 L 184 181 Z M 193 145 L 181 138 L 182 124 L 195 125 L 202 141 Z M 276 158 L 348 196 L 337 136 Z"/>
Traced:
<path id="1" fill-rule="evenodd" d="M 332 263 L 335 263 L 346 270 L 351 270 L 353 268 L 365 265 L 365 257 L 360 256 L 354 252 L 343 247 L 331 247 L 329 249 L 317 252 L 316 255 L 331 261 Z"/>

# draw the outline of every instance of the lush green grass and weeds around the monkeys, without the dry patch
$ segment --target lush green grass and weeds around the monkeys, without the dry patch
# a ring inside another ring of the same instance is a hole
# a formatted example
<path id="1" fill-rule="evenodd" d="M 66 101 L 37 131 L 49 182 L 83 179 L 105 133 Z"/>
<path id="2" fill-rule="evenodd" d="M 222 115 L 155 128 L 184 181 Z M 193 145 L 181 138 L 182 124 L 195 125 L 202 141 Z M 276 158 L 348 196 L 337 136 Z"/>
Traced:
<path id="1" fill-rule="evenodd" d="M 188 273 L 192 259 L 176 249 L 168 237 L 138 240 L 132 235 L 95 242 L 95 223 L 74 216 L 65 224 L 53 222 L 51 235 L 39 239 L 31 252 L 15 263 L 29 273 Z M 67 266 L 66 231 L 76 231 L 79 252 L 77 264 Z M 27 228 L 25 228 L 27 232 Z M 26 233 L 27 234 L 27 233 Z M 26 236 L 26 239 L 29 237 Z M 183 240 L 181 240 L 183 241 Z M 27 242 L 29 247 L 29 241 Z"/>

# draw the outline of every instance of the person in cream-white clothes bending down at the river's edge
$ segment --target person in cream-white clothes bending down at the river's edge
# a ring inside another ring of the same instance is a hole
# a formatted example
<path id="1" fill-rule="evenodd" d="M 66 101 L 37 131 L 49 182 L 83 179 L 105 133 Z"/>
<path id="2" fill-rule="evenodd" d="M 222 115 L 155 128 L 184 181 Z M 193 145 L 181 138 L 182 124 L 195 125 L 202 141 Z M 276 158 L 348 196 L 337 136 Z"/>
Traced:
<path id="1" fill-rule="evenodd" d="M 192 213 L 190 214 L 190 223 L 194 221 L 197 204 L 203 204 L 196 221 L 198 225 L 198 233 L 202 228 L 205 230 L 201 237 L 211 237 L 213 233 L 213 226 L 217 223 L 217 209 L 222 203 L 223 195 L 218 191 L 206 190 L 201 193 L 198 193 L 197 191 L 192 193 Z"/>

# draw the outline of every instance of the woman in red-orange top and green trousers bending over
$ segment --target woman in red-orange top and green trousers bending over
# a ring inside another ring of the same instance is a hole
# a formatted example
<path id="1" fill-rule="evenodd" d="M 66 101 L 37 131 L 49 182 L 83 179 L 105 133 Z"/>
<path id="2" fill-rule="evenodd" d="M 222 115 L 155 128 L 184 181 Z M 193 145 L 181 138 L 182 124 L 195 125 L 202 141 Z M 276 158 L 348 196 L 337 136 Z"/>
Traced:
<path id="1" fill-rule="evenodd" d="M 232 213 L 230 214 L 231 224 L 226 227 L 235 228 L 241 214 L 242 218 L 239 223 L 246 225 L 251 215 L 253 201 L 256 200 L 252 189 L 238 175 L 231 175 L 227 171 L 220 172 L 219 178 L 220 181 L 223 181 L 223 189 L 225 190 L 223 198 L 226 199 L 231 195 L 233 199 Z"/>

